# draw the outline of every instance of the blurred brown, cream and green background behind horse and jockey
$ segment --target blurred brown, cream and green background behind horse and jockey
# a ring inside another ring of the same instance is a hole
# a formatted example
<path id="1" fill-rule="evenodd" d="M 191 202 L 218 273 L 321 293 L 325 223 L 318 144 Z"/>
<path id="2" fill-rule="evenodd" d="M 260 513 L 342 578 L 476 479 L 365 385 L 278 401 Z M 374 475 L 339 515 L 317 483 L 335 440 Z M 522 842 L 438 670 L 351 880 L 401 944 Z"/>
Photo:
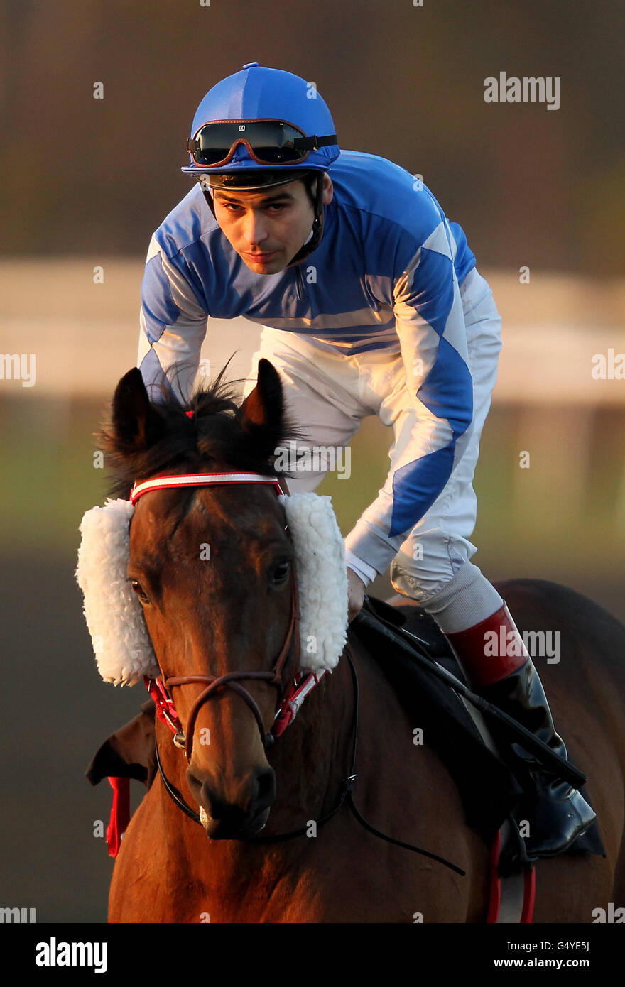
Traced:
<path id="1" fill-rule="evenodd" d="M 195 107 L 245 62 L 314 81 L 344 147 L 423 176 L 493 287 L 504 350 L 474 561 L 492 580 L 564 582 L 625 620 L 624 38 L 618 0 L 5 0 L 0 357 L 34 354 L 36 377 L 5 360 L 0 379 L 0 906 L 106 919 L 113 861 L 93 834 L 111 791 L 83 774 L 145 694 L 97 673 L 78 525 L 108 492 L 93 433 L 135 364 L 150 235 L 190 189 Z M 560 109 L 486 103 L 500 72 L 560 78 Z M 211 322 L 202 357 L 216 374 L 236 351 L 244 377 L 257 342 L 244 321 Z M 319 488 L 344 534 L 390 443 L 366 419 L 351 479 Z M 392 589 L 380 578 L 371 591 Z"/>

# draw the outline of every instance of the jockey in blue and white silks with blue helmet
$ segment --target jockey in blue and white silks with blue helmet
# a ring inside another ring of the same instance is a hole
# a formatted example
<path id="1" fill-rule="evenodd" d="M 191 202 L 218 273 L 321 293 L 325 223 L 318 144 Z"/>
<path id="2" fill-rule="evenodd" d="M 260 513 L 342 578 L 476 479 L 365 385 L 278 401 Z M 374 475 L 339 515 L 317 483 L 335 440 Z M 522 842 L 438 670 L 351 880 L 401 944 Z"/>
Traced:
<path id="1" fill-rule="evenodd" d="M 501 319 L 462 229 L 420 179 L 340 150 L 313 83 L 257 62 L 206 94 L 187 149 L 196 184 L 152 237 L 142 286 L 137 362 L 153 400 L 189 396 L 209 316 L 243 316 L 263 327 L 245 396 L 266 357 L 322 450 L 343 450 L 365 416 L 392 425 L 386 482 L 346 539 L 350 619 L 390 566 L 472 686 L 566 757 L 506 603 L 470 561 Z M 327 463 L 311 466 L 293 493 L 323 479 Z M 594 812 L 512 749 L 531 792 L 528 856 L 555 856 Z"/>

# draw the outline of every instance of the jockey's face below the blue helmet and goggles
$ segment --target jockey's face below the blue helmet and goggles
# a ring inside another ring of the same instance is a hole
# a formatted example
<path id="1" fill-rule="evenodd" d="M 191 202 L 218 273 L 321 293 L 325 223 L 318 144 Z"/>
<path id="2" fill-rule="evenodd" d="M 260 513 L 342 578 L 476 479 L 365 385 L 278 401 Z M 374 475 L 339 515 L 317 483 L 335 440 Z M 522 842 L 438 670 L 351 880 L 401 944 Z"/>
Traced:
<path id="1" fill-rule="evenodd" d="M 324 176 L 323 202 L 332 201 L 332 182 Z M 315 210 L 304 183 L 297 179 L 274 189 L 216 190 L 215 219 L 250 270 L 283 270 L 308 239 Z"/>

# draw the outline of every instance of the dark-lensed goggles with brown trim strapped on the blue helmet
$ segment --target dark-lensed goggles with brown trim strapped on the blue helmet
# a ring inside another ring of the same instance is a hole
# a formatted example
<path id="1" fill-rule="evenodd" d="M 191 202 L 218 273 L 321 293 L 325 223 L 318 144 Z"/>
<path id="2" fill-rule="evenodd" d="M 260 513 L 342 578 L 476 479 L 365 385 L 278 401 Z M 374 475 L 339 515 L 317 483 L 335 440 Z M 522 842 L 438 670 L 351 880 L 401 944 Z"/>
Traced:
<path id="1" fill-rule="evenodd" d="M 187 150 L 198 168 L 226 165 L 239 144 L 259 165 L 292 165 L 305 161 L 311 151 L 336 143 L 336 133 L 308 137 L 285 120 L 213 120 L 200 126 L 187 141 Z"/>

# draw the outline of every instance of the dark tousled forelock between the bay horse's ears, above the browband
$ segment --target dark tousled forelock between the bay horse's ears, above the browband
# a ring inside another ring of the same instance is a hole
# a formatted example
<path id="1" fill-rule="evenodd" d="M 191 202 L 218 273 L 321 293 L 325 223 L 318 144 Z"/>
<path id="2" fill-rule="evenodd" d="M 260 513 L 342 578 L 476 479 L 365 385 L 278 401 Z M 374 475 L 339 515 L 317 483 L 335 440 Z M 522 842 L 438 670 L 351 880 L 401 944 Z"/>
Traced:
<path id="1" fill-rule="evenodd" d="M 216 462 L 251 473 L 292 475 L 275 470 L 274 450 L 290 439 L 302 438 L 301 431 L 284 414 L 283 407 L 276 421 L 251 421 L 237 402 L 236 385 L 242 381 L 224 380 L 229 362 L 213 381 L 200 385 L 188 403 L 181 403 L 172 389 L 161 385 L 160 400 L 150 400 L 159 437 L 143 448 L 129 451 L 118 434 L 112 409 L 97 433 L 98 447 L 114 474 L 110 496 L 127 499 L 133 483 L 162 470 L 184 466 L 185 471 L 200 473 Z M 192 418 L 186 414 L 191 411 Z"/>

